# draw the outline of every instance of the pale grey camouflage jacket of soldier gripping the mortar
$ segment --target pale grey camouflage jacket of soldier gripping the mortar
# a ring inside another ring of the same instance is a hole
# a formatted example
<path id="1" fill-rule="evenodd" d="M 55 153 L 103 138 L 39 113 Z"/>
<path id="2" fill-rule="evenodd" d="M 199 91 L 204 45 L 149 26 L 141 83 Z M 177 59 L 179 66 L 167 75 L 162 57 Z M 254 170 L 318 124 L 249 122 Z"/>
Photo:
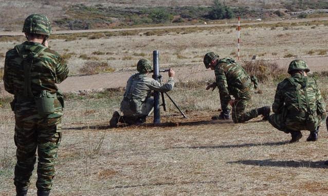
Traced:
<path id="1" fill-rule="evenodd" d="M 173 89 L 174 80 L 169 78 L 165 84 L 161 84 L 147 76 L 147 74 L 135 74 L 127 80 L 124 98 L 144 101 L 150 96 L 151 91 L 168 92 Z"/>

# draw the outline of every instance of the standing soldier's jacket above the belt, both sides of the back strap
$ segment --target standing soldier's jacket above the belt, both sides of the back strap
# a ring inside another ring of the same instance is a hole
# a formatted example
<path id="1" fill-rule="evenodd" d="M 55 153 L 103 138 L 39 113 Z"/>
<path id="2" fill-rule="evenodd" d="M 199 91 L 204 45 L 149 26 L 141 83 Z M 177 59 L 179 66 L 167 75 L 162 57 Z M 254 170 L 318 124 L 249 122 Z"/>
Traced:
<path id="1" fill-rule="evenodd" d="M 58 87 L 56 83 L 61 83 L 67 78 L 68 67 L 64 60 L 56 51 L 35 42 L 24 42 L 16 45 L 14 49 L 6 53 L 4 84 L 5 90 L 13 95 L 24 94 L 24 62 L 19 55 L 28 55 L 29 52 L 37 53 L 44 49 L 41 54 L 33 58 L 33 64 L 30 68 L 31 90 L 34 96 L 46 90 L 50 93 L 56 93 Z"/>

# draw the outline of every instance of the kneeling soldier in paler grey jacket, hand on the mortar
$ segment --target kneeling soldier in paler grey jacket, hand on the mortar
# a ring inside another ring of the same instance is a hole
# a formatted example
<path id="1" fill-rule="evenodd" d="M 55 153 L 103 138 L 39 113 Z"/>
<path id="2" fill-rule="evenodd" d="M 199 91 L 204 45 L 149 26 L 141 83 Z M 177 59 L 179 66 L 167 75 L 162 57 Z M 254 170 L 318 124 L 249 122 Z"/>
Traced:
<path id="1" fill-rule="evenodd" d="M 121 116 L 115 111 L 110 120 L 111 127 L 117 127 L 118 122 L 127 124 L 144 123 L 146 117 L 152 112 L 154 99 L 151 98 L 151 91 L 168 92 L 174 86 L 174 70 L 169 70 L 169 80 L 165 84 L 148 77 L 152 71 L 152 64 L 148 59 L 140 59 L 137 63 L 139 73 L 131 76 L 127 80 L 125 93 L 121 102 Z"/>

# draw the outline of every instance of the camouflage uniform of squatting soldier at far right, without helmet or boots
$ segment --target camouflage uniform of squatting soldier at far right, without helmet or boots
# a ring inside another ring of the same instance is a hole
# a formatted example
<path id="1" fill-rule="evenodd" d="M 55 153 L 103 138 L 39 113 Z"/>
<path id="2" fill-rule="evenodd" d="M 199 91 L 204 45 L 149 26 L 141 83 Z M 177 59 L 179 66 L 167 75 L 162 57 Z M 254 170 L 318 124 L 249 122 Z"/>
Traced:
<path id="1" fill-rule="evenodd" d="M 278 84 L 275 102 L 272 104 L 272 111 L 275 114 L 269 117 L 269 122 L 278 130 L 286 133 L 308 130 L 306 126 L 308 109 L 303 88 L 305 79 L 307 79 L 305 88 L 311 110 L 309 113 L 313 113 L 318 118 L 318 124 L 324 121 L 326 104 L 321 97 L 316 80 L 297 73 Z"/>

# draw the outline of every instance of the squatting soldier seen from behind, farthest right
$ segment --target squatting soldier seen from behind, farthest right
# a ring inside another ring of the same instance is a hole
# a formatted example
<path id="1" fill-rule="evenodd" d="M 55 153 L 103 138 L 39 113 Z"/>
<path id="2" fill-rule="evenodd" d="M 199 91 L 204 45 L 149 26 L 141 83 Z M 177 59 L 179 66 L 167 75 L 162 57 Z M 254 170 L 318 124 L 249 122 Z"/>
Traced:
<path id="1" fill-rule="evenodd" d="M 268 120 L 280 131 L 291 134 L 289 143 L 302 137 L 301 130 L 310 131 L 306 141 L 318 140 L 320 124 L 326 117 L 326 103 L 321 97 L 317 81 L 306 75 L 310 70 L 303 60 L 291 61 L 289 78 L 278 84 Z"/>

